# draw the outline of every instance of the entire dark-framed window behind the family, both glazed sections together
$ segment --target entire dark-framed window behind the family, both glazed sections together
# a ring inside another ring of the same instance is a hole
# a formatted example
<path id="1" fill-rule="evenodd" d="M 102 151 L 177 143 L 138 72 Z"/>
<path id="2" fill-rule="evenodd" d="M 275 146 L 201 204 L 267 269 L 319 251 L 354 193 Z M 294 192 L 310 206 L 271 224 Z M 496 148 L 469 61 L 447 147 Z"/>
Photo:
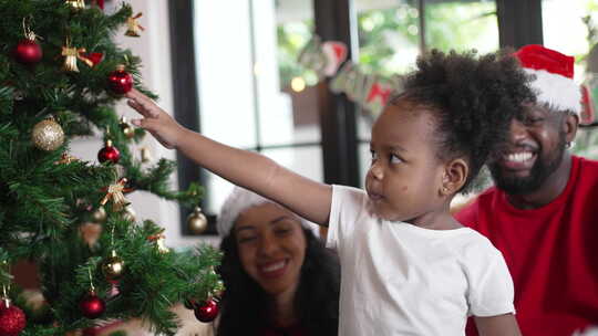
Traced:
<path id="1" fill-rule="evenodd" d="M 550 1 L 559 2 L 544 0 Z M 486 53 L 542 43 L 540 4 L 543 0 L 171 1 L 175 114 L 187 127 L 262 153 L 316 180 L 359 187 L 369 166 L 370 128 L 380 111 L 360 109 L 354 97 L 330 90 L 333 78 L 299 66 L 306 43 L 316 36 L 341 41 L 361 72 L 386 78 L 410 71 L 416 56 L 432 48 Z M 179 167 L 182 187 L 203 178 L 204 208 L 217 213 L 231 186 L 185 158 L 179 157 Z"/>

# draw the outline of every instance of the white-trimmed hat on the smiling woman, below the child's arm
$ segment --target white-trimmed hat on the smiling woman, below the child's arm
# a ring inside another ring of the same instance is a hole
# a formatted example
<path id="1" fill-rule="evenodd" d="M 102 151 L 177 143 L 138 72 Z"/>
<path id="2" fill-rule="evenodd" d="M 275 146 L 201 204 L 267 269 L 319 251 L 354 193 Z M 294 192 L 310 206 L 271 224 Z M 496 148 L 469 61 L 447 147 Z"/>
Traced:
<path id="1" fill-rule="evenodd" d="M 241 212 L 264 203 L 278 204 L 277 202 L 264 198 L 252 191 L 235 186 L 220 208 L 220 214 L 218 216 L 218 222 L 216 223 L 218 234 L 223 238 L 227 237 Z M 303 228 L 309 228 L 306 220 L 299 217 L 297 217 L 297 219 L 301 222 Z"/>

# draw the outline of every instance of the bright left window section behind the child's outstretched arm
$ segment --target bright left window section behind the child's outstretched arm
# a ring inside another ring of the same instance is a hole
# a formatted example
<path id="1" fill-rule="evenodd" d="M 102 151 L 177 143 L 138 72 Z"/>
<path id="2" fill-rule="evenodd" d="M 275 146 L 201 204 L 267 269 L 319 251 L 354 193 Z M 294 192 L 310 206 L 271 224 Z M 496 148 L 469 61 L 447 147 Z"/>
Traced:
<path id="1" fill-rule="evenodd" d="M 317 78 L 297 64 L 313 31 L 310 2 L 194 6 L 202 133 L 321 181 L 317 96 L 309 86 Z M 297 83 L 298 78 L 311 83 Z M 233 186 L 208 172 L 204 185 L 205 210 L 217 213 Z"/>

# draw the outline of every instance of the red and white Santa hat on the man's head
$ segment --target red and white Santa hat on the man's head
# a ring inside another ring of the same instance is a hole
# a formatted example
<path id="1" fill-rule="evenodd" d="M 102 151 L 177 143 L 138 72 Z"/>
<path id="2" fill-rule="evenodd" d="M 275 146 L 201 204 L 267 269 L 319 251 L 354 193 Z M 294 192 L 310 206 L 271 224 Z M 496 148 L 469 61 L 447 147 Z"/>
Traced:
<path id="1" fill-rule="evenodd" d="M 535 80 L 530 86 L 537 94 L 538 103 L 546 103 L 558 111 L 581 112 L 581 90 L 574 82 L 573 56 L 538 44 L 529 44 L 515 54 L 522 66 Z"/>

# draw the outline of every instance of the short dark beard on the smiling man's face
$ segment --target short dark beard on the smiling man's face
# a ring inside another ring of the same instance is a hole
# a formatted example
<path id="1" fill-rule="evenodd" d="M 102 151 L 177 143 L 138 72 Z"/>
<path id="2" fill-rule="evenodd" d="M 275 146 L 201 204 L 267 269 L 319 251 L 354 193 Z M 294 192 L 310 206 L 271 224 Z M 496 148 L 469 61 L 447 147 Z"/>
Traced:
<path id="1" fill-rule="evenodd" d="M 561 132 L 558 136 L 559 139 L 555 155 L 540 157 L 540 154 L 538 154 L 536 162 L 534 162 L 530 174 L 527 177 L 516 177 L 511 174 L 505 176 L 498 161 L 489 164 L 488 169 L 496 187 L 508 195 L 526 195 L 538 190 L 546 179 L 560 166 L 567 144 L 565 137 L 565 132 Z"/>

